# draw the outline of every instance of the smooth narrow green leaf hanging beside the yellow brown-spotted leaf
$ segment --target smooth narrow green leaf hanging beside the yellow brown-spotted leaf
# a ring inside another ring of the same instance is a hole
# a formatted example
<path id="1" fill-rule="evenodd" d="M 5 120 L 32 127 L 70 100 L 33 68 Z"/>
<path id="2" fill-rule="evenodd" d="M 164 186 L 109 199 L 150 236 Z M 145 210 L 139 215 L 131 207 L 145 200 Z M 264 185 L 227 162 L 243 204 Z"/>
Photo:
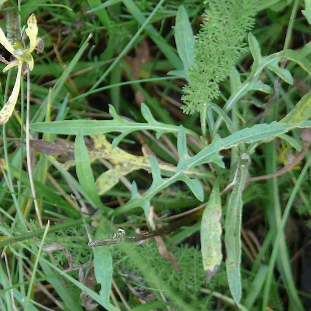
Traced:
<path id="1" fill-rule="evenodd" d="M 103 207 L 102 201 L 96 191 L 95 181 L 87 154 L 86 144 L 81 131 L 74 141 L 74 157 L 76 160 L 76 173 L 81 187 L 91 200 L 93 207 Z"/>

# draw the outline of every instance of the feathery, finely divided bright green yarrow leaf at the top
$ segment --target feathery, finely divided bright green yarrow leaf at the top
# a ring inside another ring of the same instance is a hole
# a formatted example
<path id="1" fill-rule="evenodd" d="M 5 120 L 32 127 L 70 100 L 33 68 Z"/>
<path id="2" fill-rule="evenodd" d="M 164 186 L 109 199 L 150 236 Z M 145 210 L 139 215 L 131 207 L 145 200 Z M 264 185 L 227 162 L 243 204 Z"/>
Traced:
<path id="1" fill-rule="evenodd" d="M 203 15 L 196 35 L 194 61 L 184 87 L 183 110 L 194 113 L 200 106 L 218 97 L 218 83 L 234 69 L 245 49 L 245 32 L 254 24 L 257 0 L 213 0 Z"/>

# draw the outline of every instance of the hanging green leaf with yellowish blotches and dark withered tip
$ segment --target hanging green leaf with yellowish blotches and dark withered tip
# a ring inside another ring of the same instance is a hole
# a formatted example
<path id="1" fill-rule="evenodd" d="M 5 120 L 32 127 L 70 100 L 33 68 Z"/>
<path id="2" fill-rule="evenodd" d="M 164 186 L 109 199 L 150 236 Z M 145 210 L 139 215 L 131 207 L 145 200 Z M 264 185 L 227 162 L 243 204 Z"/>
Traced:
<path id="1" fill-rule="evenodd" d="M 216 274 L 222 259 L 222 225 L 219 181 L 215 182 L 201 222 L 201 253 L 207 283 Z"/>

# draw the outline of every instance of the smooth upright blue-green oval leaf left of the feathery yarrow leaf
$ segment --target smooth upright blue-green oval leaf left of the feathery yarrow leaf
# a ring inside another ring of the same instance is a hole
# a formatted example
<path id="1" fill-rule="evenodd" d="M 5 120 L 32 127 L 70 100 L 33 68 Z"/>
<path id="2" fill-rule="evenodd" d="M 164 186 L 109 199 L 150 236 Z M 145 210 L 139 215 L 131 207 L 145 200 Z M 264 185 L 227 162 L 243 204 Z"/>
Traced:
<path id="1" fill-rule="evenodd" d="M 177 52 L 183 62 L 184 70 L 187 70 L 193 62 L 194 36 L 187 11 L 183 5 L 180 5 L 177 10 L 174 30 Z"/>

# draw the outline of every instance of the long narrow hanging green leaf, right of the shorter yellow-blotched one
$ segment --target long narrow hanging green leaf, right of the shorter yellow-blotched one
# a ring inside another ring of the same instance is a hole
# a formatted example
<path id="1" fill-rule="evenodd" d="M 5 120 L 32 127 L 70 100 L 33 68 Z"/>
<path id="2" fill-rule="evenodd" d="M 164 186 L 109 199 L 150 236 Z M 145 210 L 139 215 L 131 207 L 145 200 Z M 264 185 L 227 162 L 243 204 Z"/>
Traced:
<path id="1" fill-rule="evenodd" d="M 240 302 L 242 294 L 241 284 L 241 220 L 242 220 L 242 191 L 245 184 L 249 156 L 241 156 L 241 177 L 237 178 L 229 198 L 225 218 L 225 261 L 228 284 L 233 300 Z"/>

